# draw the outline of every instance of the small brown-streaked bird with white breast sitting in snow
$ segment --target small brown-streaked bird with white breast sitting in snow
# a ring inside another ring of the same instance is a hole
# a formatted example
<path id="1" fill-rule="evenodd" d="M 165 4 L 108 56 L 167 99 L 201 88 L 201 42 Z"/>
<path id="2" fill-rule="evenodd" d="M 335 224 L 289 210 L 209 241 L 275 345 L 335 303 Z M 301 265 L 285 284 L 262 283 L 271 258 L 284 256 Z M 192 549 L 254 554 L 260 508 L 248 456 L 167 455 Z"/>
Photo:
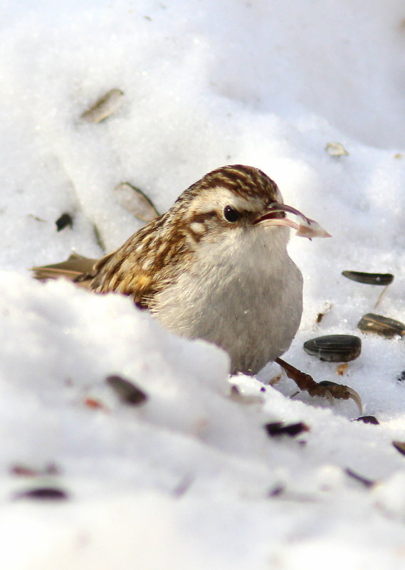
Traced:
<path id="1" fill-rule="evenodd" d="M 330 236 L 284 204 L 263 171 L 233 164 L 191 184 L 100 260 L 74 254 L 33 270 L 42 280 L 62 275 L 96 293 L 127 295 L 169 331 L 225 350 L 231 374 L 255 375 L 288 350 L 300 325 L 303 275 L 288 254 L 290 228 Z"/>

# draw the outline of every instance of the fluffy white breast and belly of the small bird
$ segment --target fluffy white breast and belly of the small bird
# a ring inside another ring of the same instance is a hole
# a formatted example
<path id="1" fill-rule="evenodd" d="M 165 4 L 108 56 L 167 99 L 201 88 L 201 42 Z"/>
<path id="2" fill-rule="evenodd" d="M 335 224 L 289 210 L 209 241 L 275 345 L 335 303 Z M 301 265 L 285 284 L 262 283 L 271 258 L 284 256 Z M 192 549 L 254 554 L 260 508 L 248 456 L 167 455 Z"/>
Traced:
<path id="1" fill-rule="evenodd" d="M 287 253 L 285 228 L 242 237 L 202 244 L 194 263 L 157 295 L 154 313 L 173 332 L 225 349 L 232 372 L 256 374 L 290 346 L 303 280 Z"/>

